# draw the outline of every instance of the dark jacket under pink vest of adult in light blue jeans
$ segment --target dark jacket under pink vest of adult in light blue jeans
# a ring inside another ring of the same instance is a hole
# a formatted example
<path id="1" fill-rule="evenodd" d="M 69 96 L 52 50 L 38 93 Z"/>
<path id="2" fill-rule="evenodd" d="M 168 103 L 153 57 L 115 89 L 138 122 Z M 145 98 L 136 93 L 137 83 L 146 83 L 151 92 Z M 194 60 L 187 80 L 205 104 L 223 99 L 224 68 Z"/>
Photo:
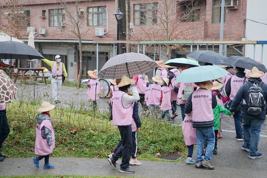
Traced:
<path id="1" fill-rule="evenodd" d="M 184 112 L 186 114 L 191 113 L 193 110 L 192 94 L 190 94 L 190 96 L 187 99 L 186 104 L 185 104 Z M 211 101 L 212 101 L 211 107 L 212 107 L 212 109 L 214 109 L 217 106 L 217 98 L 213 92 L 211 92 L 211 97 L 212 97 L 211 98 Z M 203 103 L 203 104 L 205 104 L 205 103 Z M 212 126 L 214 126 L 214 121 L 212 121 L 212 122 L 194 122 L 193 121 L 193 128 L 204 128 L 204 127 L 212 127 Z"/>

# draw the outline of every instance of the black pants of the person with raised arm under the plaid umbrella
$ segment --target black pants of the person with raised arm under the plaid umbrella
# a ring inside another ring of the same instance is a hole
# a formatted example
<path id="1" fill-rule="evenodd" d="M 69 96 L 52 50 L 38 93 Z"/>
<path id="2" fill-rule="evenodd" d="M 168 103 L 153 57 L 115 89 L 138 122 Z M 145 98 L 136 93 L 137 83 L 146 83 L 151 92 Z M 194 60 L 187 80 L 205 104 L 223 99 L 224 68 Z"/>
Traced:
<path id="1" fill-rule="evenodd" d="M 120 153 L 112 155 L 112 158 L 117 161 L 120 157 L 122 157 L 120 167 L 121 168 L 128 168 L 129 161 L 131 158 L 132 153 L 132 126 L 125 125 L 119 126 L 118 129 L 120 131 L 121 141 L 122 141 L 122 148 L 121 148 L 121 155 Z M 118 152 L 118 151 L 117 151 Z"/>

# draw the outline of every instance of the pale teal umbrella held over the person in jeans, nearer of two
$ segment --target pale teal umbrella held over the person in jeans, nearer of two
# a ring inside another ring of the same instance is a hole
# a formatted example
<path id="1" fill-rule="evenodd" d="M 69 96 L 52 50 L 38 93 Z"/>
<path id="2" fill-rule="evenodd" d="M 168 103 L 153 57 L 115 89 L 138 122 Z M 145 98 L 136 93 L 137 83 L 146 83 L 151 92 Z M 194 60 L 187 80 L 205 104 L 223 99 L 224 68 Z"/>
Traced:
<path id="1" fill-rule="evenodd" d="M 215 80 L 226 76 L 229 72 L 219 66 L 198 66 L 183 70 L 176 78 L 176 82 L 191 83 Z"/>

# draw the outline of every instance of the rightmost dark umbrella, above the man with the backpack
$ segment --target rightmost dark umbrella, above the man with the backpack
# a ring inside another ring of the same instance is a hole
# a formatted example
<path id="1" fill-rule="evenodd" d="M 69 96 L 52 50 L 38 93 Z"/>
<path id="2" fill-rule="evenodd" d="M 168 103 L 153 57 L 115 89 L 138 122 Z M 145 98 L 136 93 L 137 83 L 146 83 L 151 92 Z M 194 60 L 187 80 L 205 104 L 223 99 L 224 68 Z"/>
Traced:
<path id="1" fill-rule="evenodd" d="M 267 72 L 267 69 L 263 64 L 258 63 L 249 57 L 231 56 L 224 60 L 224 62 L 229 63 L 230 66 L 237 66 L 249 70 L 251 70 L 253 67 L 256 67 L 262 72 Z"/>

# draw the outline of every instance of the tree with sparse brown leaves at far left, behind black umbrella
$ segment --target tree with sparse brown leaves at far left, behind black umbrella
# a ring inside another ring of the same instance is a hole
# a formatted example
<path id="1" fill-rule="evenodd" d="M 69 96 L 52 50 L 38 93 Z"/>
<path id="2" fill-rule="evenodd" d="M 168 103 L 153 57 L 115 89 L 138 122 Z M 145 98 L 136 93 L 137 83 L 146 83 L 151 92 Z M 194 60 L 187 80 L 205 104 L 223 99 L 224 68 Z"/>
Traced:
<path id="1" fill-rule="evenodd" d="M 25 0 L 4 0 L 5 5 L 0 7 L 2 20 L 0 22 L 0 30 L 15 37 L 21 38 L 21 30 L 30 26 L 30 16 L 24 11 L 23 4 Z M 20 67 L 20 59 L 18 60 Z"/>

